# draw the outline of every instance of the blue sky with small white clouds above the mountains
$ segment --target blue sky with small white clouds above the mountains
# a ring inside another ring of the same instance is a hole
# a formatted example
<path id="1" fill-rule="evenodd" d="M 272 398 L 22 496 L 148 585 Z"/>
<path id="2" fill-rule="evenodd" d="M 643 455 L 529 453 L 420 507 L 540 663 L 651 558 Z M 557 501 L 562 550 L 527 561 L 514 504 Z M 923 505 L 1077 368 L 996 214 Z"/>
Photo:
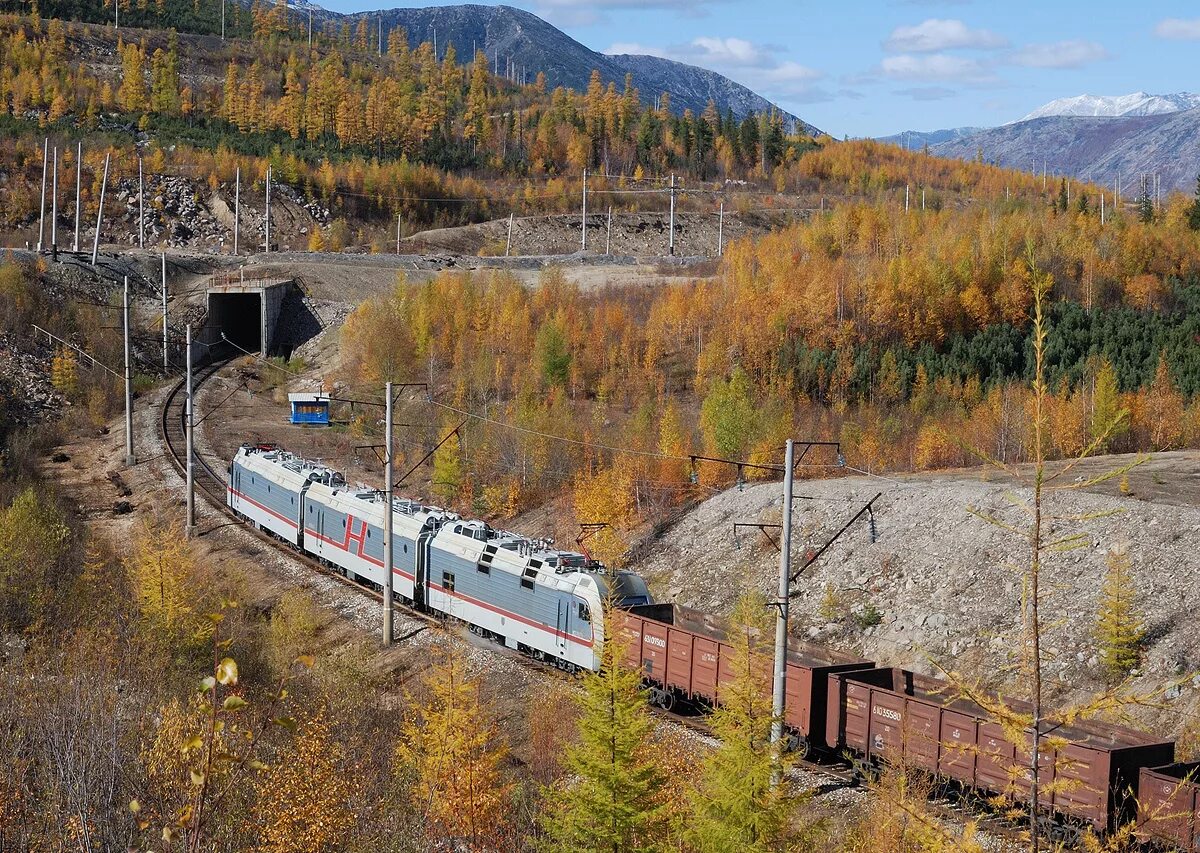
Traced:
<path id="1" fill-rule="evenodd" d="M 362 0 L 322 5 L 340 12 L 380 7 Z M 1194 0 L 508 5 L 595 50 L 653 53 L 713 68 L 838 137 L 1000 125 L 1057 97 L 1200 86 Z"/>

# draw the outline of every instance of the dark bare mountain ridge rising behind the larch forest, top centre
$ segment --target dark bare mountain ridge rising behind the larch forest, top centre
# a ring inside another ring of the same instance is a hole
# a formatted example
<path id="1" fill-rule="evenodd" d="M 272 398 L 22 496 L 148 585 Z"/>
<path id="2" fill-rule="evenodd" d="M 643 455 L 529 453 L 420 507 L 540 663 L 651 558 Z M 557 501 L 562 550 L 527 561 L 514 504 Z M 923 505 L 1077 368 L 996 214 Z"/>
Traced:
<path id="1" fill-rule="evenodd" d="M 482 49 L 497 73 L 509 73 L 515 79 L 532 82 L 541 71 L 551 88 L 566 86 L 583 91 L 595 68 L 605 84 L 616 83 L 618 90 L 625 85 L 625 74 L 631 73 L 643 101 L 650 101 L 664 91 L 670 92 L 671 107 L 677 112 L 691 109 L 701 113 L 709 98 L 722 113 L 732 110 L 739 119 L 774 106 L 714 71 L 658 56 L 608 56 L 596 53 L 538 16 L 511 6 L 464 4 L 391 8 L 350 16 L 325 14 L 350 20 L 365 17 L 372 26 L 382 20 L 384 38 L 397 26 L 403 28 L 410 46 L 436 41 L 439 55 L 446 44 L 454 44 L 460 62 L 470 61 L 473 50 Z M 816 132 L 816 128 L 794 115 L 779 112 L 785 121 L 798 122 L 800 127 Z"/>

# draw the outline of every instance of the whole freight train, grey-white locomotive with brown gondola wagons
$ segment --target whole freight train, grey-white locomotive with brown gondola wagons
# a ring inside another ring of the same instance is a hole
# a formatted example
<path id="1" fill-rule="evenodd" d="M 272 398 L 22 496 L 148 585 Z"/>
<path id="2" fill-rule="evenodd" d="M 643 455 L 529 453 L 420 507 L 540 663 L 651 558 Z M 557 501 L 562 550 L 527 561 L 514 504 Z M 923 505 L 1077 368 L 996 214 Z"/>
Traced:
<path id="1" fill-rule="evenodd" d="M 246 444 L 229 465 L 228 504 L 382 589 L 386 498 L 378 489 L 350 487 L 338 471 L 276 445 Z M 394 591 L 403 603 L 572 672 L 599 668 L 611 631 L 655 704 L 703 710 L 720 701 L 733 675 L 720 620 L 655 603 L 635 572 L 608 571 L 546 540 L 412 500 L 394 498 L 391 511 Z M 899 762 L 965 795 L 1028 798 L 1028 734 L 1010 743 L 949 683 L 796 639 L 786 674 L 785 729 L 800 753 L 848 757 L 860 770 Z M 1104 834 L 1136 821 L 1147 843 L 1200 852 L 1200 764 L 1172 763 L 1172 741 L 1109 723 L 1045 725 L 1054 740 L 1043 741 L 1038 762 L 1051 835 L 1073 841 L 1085 829 Z"/>

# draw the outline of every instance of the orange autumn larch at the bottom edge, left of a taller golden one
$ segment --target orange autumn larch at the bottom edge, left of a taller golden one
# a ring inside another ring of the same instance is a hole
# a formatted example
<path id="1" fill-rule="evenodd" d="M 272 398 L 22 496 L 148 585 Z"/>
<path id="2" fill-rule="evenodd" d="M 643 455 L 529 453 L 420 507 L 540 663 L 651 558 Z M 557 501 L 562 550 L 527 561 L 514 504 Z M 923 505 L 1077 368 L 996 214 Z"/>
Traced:
<path id="1" fill-rule="evenodd" d="M 256 780 L 254 823 L 263 853 L 338 849 L 354 825 L 346 753 L 324 708 L 296 728 L 295 740 Z"/>

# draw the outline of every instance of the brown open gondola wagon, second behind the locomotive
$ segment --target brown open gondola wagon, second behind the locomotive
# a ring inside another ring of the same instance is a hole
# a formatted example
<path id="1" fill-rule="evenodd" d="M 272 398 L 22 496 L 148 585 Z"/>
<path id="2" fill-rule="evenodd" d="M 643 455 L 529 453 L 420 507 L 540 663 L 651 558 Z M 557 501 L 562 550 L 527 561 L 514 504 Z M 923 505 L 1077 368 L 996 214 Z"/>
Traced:
<path id="1" fill-rule="evenodd" d="M 956 697 L 950 683 L 894 668 L 835 673 L 829 680 L 826 740 L 832 746 L 868 761 L 902 762 L 965 788 L 1028 798 L 1028 735 L 1024 744 L 1010 743 L 991 715 Z M 1169 764 L 1175 756 L 1174 741 L 1121 726 L 1044 726 L 1052 740 L 1043 741 L 1039 779 L 1045 807 L 1068 824 L 1066 835 L 1070 827 L 1105 831 L 1133 819 L 1140 769 Z"/>

